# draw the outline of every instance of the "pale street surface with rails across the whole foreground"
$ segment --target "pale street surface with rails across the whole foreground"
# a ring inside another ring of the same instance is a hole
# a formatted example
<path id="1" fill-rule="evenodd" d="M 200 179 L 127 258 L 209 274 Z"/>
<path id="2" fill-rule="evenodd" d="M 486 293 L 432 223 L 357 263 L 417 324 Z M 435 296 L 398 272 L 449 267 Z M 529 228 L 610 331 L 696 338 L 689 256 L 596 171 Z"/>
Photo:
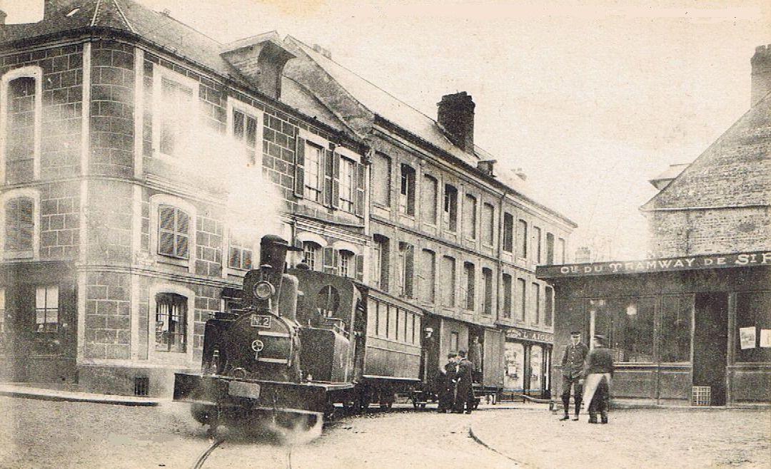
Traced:
<path id="1" fill-rule="evenodd" d="M 0 397 L 0 408 L 0 467 L 193 467 L 211 443 L 182 404 Z M 596 467 L 598 457 L 605 467 L 771 467 L 767 410 L 617 410 L 608 425 L 557 417 L 527 405 L 375 410 L 291 448 L 226 429 L 204 467 Z"/>

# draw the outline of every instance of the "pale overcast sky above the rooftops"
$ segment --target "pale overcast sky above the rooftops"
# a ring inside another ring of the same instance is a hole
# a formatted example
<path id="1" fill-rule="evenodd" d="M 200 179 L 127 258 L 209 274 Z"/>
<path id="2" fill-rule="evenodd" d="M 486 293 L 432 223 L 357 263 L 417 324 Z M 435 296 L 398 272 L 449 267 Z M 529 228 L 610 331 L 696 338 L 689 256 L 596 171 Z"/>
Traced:
<path id="1" fill-rule="evenodd" d="M 318 43 L 433 118 L 441 95 L 469 92 L 477 145 L 579 224 L 573 249 L 611 236 L 616 259 L 645 256 L 648 179 L 749 109 L 749 59 L 771 43 L 767 0 L 139 1 L 221 42 Z M 0 0 L 9 22 L 32 3 Z"/>

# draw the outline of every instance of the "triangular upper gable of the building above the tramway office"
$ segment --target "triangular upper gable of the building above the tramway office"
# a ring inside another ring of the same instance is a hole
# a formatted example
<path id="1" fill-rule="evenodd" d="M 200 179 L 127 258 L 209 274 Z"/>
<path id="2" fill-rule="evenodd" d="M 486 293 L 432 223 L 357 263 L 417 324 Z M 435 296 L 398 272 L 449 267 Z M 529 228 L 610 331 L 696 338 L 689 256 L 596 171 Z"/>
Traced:
<path id="1" fill-rule="evenodd" d="M 641 207 L 771 204 L 771 93 Z"/>

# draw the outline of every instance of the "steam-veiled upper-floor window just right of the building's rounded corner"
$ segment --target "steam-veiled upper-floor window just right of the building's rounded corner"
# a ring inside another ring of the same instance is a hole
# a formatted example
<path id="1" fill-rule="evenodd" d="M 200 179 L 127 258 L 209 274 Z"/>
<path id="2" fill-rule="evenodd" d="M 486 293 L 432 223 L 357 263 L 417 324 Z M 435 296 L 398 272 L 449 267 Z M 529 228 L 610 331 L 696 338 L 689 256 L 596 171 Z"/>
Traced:
<path id="1" fill-rule="evenodd" d="M 180 149 L 190 122 L 185 112 L 192 109 L 193 89 L 180 82 L 161 78 L 160 81 L 160 152 L 175 155 Z"/>

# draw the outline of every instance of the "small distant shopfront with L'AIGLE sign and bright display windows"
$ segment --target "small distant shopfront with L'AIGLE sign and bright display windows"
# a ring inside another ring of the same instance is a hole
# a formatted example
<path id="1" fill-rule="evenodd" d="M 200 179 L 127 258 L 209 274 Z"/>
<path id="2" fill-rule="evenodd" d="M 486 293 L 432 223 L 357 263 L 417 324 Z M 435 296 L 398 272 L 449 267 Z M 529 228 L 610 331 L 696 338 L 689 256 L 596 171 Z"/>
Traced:
<path id="1" fill-rule="evenodd" d="M 507 327 L 503 344 L 503 389 L 534 397 L 550 397 L 551 347 L 554 335 Z"/>

